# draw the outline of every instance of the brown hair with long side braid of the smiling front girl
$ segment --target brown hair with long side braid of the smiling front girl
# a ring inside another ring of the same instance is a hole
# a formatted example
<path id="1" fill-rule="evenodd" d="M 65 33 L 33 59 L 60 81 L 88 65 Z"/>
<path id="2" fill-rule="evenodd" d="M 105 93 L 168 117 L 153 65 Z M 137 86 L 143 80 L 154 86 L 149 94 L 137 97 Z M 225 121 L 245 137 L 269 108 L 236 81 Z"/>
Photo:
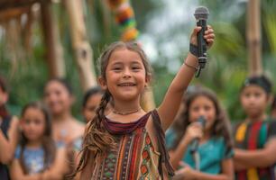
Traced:
<path id="1" fill-rule="evenodd" d="M 117 41 L 109 45 L 106 50 L 102 53 L 99 58 L 100 62 L 100 76 L 106 81 L 106 67 L 109 62 L 109 58 L 112 53 L 117 49 L 128 49 L 139 54 L 143 61 L 143 66 L 145 67 L 145 76 L 151 76 L 151 66 L 146 58 L 143 49 L 135 42 L 123 42 Z M 85 166 L 87 166 L 87 159 L 92 153 L 92 157 L 100 157 L 104 155 L 108 149 L 115 148 L 115 140 L 113 136 L 106 130 L 102 120 L 105 118 L 105 109 L 107 103 L 112 99 L 112 94 L 109 93 L 108 89 L 104 92 L 101 103 L 96 111 L 96 116 L 93 121 L 90 121 L 87 125 L 87 130 L 85 132 L 83 149 L 81 150 L 82 155 L 78 167 L 74 175 L 81 171 Z M 72 176 L 74 176 L 72 175 Z"/>

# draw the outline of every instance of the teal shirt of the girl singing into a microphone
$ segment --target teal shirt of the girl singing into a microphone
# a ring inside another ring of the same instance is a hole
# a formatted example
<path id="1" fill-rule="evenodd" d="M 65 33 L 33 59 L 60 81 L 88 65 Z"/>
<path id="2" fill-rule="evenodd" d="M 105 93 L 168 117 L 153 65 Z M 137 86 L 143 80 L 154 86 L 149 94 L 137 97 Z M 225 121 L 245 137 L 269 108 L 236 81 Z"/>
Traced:
<path id="1" fill-rule="evenodd" d="M 167 131 L 166 143 L 168 148 L 171 148 L 176 138 L 176 133 L 173 130 Z M 211 138 L 198 146 L 198 155 L 200 157 L 199 170 L 204 173 L 217 175 L 222 171 L 222 161 L 233 157 L 234 151 L 233 149 L 226 150 L 225 140 L 222 137 Z M 190 153 L 190 146 L 187 148 L 184 157 L 182 157 L 182 161 L 195 168 L 195 160 Z"/>

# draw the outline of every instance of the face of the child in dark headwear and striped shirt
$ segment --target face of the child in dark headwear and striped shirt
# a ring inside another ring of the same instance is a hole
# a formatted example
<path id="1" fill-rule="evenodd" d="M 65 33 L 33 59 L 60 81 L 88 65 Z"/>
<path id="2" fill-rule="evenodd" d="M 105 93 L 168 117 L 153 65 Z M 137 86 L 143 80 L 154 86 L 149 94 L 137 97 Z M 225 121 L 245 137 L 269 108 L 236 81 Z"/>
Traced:
<path id="1" fill-rule="evenodd" d="M 240 100 L 244 111 L 249 117 L 262 115 L 268 104 L 268 96 L 259 85 L 244 87 Z"/>

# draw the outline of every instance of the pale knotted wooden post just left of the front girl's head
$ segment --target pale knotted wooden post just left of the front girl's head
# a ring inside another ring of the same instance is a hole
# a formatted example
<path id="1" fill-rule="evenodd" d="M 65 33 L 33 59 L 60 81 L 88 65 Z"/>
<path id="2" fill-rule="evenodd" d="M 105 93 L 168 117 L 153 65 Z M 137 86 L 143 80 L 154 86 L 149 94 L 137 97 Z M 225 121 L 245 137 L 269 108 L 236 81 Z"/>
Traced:
<path id="1" fill-rule="evenodd" d="M 64 0 L 63 2 L 69 14 L 70 34 L 80 82 L 83 90 L 86 91 L 91 86 L 97 85 L 97 78 L 92 63 L 92 49 L 87 41 L 82 1 Z"/>

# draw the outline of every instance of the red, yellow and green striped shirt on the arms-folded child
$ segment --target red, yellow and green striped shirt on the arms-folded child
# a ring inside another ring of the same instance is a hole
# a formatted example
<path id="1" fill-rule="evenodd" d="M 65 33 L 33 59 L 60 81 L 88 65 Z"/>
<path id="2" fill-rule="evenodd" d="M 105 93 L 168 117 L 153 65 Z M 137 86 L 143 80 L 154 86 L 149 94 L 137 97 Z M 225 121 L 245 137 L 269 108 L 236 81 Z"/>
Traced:
<path id="1" fill-rule="evenodd" d="M 243 122 L 235 129 L 235 147 L 248 150 L 263 148 L 268 136 L 267 121 Z M 237 180 L 274 180 L 271 167 L 250 168 L 235 173 Z"/>

